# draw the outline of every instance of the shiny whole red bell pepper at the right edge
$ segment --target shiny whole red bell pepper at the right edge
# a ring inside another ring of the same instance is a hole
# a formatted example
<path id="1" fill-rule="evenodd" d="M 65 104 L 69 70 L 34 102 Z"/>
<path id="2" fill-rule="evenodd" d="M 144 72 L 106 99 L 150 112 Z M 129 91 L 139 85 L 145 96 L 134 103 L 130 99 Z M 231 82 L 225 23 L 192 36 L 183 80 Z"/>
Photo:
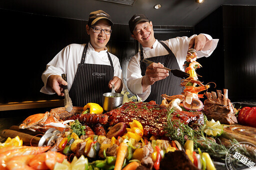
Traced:
<path id="1" fill-rule="evenodd" d="M 256 127 L 256 107 L 243 107 L 237 116 L 238 123 Z"/>

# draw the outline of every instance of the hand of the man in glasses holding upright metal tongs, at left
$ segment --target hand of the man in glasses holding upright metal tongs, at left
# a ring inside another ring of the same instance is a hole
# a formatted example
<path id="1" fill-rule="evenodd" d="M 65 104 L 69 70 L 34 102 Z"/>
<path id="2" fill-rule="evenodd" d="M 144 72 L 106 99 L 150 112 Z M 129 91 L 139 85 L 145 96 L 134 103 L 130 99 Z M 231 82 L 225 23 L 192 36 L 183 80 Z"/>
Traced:
<path id="1" fill-rule="evenodd" d="M 67 85 L 67 82 L 60 75 L 50 75 L 47 79 L 47 85 L 59 96 L 64 96 L 62 85 Z"/>

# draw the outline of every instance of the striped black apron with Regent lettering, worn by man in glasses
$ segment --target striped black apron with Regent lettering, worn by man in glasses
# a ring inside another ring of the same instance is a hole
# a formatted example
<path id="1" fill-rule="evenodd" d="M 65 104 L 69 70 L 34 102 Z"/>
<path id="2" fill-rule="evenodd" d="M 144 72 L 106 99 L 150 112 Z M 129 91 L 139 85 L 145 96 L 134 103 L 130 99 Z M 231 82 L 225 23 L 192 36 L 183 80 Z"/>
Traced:
<path id="1" fill-rule="evenodd" d="M 107 52 L 111 65 L 84 63 L 88 44 L 83 48 L 81 61 L 78 64 L 69 96 L 73 106 L 83 107 L 88 102 L 102 105 L 102 94 L 111 92 L 108 82 L 114 75 L 113 62 Z"/>

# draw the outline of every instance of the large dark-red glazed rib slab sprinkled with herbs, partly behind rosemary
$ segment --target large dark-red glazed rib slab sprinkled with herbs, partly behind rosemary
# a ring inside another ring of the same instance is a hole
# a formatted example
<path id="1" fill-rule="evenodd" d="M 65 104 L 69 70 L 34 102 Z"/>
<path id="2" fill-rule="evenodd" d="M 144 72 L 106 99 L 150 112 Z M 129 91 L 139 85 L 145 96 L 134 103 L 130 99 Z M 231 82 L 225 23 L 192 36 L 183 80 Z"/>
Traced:
<path id="1" fill-rule="evenodd" d="M 132 122 L 133 119 L 138 120 L 143 126 L 144 137 L 150 137 L 151 135 L 162 137 L 166 133 L 164 127 L 167 124 L 167 109 L 163 105 L 156 104 L 155 101 L 146 103 L 130 101 L 119 108 L 108 111 L 106 114 L 108 115 L 109 125 L 125 122 L 129 126 L 128 122 Z M 176 111 L 173 113 L 172 119 L 180 120 L 180 122 L 192 127 L 203 124 L 203 114 L 199 111 Z"/>

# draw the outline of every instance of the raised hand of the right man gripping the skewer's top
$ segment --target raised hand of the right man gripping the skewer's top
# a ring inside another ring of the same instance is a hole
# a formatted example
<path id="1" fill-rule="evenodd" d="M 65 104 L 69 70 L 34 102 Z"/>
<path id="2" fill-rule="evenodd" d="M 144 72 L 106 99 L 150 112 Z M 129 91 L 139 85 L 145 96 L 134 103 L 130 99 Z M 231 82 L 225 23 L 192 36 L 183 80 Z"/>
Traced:
<path id="1" fill-rule="evenodd" d="M 192 37 L 189 44 L 189 48 L 194 48 L 195 50 L 208 50 L 212 45 L 212 41 L 206 38 L 203 34 L 199 34 L 195 37 Z"/>

